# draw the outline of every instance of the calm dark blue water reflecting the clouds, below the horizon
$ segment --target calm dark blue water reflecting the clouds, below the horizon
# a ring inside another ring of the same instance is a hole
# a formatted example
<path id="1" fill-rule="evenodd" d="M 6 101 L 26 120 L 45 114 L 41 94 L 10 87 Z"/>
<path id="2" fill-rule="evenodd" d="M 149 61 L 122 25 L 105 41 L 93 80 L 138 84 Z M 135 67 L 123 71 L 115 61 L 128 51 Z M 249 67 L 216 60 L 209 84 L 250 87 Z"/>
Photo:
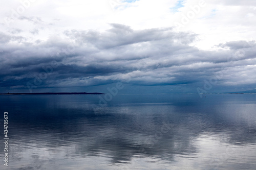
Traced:
<path id="1" fill-rule="evenodd" d="M 0 169 L 256 169 L 254 94 L 120 94 L 93 109 L 98 102 L 0 96 L 2 131 L 9 113 Z"/>

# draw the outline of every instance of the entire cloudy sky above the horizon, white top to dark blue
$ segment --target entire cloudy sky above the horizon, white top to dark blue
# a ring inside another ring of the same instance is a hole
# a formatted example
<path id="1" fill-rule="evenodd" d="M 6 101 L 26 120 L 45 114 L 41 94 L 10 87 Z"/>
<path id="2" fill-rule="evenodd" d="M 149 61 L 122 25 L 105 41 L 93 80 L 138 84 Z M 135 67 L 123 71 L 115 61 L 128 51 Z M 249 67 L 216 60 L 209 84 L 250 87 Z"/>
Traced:
<path id="1" fill-rule="evenodd" d="M 254 0 L 21 0 L 0 7 L 0 93 L 256 89 Z"/>

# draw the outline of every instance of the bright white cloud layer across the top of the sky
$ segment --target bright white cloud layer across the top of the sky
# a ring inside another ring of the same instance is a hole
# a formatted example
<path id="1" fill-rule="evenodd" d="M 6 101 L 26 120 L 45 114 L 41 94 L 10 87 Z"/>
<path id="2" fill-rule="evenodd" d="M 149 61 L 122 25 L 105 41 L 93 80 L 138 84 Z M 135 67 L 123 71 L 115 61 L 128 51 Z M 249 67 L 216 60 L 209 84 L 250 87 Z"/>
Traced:
<path id="1" fill-rule="evenodd" d="M 27 0 L 29 1 L 29 0 Z M 24 2 L 27 2 L 24 0 Z M 175 14 L 172 8 L 177 1 L 149 1 L 140 0 L 131 3 L 114 1 L 121 8 L 112 9 L 111 1 L 41 1 L 30 3 L 22 17 L 38 17 L 43 22 L 33 25 L 26 20 L 15 19 L 10 27 L 2 31 L 21 29 L 23 36 L 32 39 L 46 39 L 45 37 L 59 34 L 64 30 L 105 30 L 110 28 L 108 23 L 121 23 L 133 29 L 151 29 L 174 27 L 176 22 L 181 22 L 183 16 L 193 13 L 191 7 L 199 6 L 199 12 L 194 12 L 195 17 L 178 31 L 190 31 L 200 34 L 197 45 L 209 50 L 212 46 L 227 41 L 251 40 L 255 35 L 256 7 L 254 1 L 205 1 L 205 6 L 200 6 L 202 1 L 184 1 L 184 7 L 179 8 Z M 13 11 L 17 12 L 23 7 L 19 2 L 8 2 L 0 7 L 2 23 L 5 17 L 11 17 Z M 196 10 L 196 9 L 195 9 Z M 38 34 L 30 35 L 31 30 L 38 29 Z M 30 34 L 29 34 L 30 33 Z"/>

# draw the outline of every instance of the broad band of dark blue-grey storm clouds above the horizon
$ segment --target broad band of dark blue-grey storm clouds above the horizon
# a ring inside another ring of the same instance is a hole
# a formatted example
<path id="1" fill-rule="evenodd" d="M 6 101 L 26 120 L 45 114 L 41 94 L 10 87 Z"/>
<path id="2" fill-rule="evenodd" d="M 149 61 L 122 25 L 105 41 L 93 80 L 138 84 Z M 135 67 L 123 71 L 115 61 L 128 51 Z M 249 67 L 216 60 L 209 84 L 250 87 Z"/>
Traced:
<path id="1" fill-rule="evenodd" d="M 65 38 L 53 36 L 37 43 L 0 33 L 0 85 L 76 87 L 122 81 L 197 87 L 220 72 L 219 85 L 255 83 L 253 41 L 231 41 L 219 44 L 218 51 L 203 51 L 190 45 L 196 34 L 174 32 L 171 28 L 111 27 L 105 32 L 67 30 Z"/>

